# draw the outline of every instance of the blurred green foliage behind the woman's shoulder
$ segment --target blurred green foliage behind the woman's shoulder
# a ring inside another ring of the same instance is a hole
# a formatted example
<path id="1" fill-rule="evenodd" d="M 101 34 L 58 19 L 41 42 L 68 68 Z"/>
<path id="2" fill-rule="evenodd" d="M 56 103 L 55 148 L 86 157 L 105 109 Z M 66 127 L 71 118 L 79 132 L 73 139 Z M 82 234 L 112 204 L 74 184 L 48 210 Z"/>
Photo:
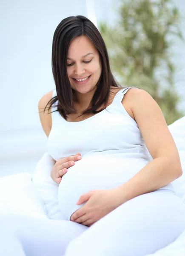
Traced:
<path id="1" fill-rule="evenodd" d="M 171 0 L 122 0 L 114 26 L 100 23 L 111 68 L 120 84 L 146 90 L 159 104 L 167 124 L 184 116 L 171 61 L 174 39 L 181 39 L 179 10 Z"/>

